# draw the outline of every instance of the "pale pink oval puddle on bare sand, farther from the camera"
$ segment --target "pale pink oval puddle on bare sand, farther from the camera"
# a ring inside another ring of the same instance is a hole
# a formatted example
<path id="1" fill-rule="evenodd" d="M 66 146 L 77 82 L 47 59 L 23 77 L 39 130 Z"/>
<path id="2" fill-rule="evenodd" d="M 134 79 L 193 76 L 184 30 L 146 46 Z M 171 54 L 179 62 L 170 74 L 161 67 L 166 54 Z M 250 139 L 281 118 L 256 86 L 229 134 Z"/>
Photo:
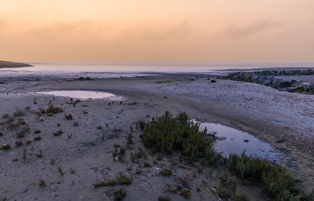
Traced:
<path id="1" fill-rule="evenodd" d="M 67 96 L 71 98 L 105 98 L 114 96 L 114 94 L 105 93 L 105 92 L 98 92 L 98 91 L 48 91 L 48 92 L 36 92 L 39 94 L 50 94 L 50 95 L 57 95 L 57 96 Z"/>

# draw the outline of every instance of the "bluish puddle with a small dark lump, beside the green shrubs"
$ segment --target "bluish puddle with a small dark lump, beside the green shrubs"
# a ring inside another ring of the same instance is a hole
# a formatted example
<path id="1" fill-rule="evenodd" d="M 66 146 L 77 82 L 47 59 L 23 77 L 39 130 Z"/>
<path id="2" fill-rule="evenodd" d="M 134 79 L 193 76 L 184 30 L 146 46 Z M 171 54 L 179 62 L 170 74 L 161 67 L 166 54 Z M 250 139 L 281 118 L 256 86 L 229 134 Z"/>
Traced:
<path id="1" fill-rule="evenodd" d="M 208 132 L 217 131 L 217 140 L 215 143 L 215 149 L 219 152 L 223 152 L 224 156 L 228 156 L 229 153 L 242 153 L 245 149 L 245 153 L 248 155 L 255 155 L 262 158 L 268 158 L 269 160 L 280 161 L 282 155 L 280 155 L 277 149 L 272 148 L 266 142 L 257 139 L 249 133 L 239 131 L 234 128 L 226 127 L 215 123 L 201 123 L 200 129 L 207 128 Z"/>

